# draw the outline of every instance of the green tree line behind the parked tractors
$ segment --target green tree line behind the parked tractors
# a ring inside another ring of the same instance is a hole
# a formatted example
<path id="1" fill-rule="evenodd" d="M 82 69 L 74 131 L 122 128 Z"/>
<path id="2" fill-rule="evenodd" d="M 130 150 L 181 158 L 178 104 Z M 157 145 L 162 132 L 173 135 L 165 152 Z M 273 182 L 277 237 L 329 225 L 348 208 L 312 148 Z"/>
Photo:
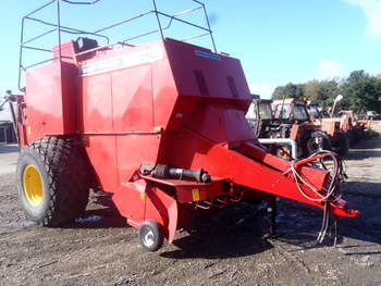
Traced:
<path id="1" fill-rule="evenodd" d="M 297 98 L 331 107 L 337 95 L 344 99 L 337 103 L 340 109 L 351 109 L 357 113 L 376 111 L 381 113 L 381 75 L 372 76 L 364 71 L 354 71 L 347 78 L 317 80 L 305 84 L 288 83 L 278 86 L 272 99 Z"/>

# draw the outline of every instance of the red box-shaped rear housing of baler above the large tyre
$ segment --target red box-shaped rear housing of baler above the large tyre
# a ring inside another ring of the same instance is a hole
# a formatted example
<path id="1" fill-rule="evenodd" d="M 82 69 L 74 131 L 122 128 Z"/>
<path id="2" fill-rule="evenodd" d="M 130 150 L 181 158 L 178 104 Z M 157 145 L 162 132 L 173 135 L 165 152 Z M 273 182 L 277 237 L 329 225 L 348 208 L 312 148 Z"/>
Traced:
<path id="1" fill-rule="evenodd" d="M 77 67 L 54 61 L 26 73 L 26 141 L 46 135 L 76 132 L 75 77 Z M 73 109 L 74 107 L 74 109 Z"/>

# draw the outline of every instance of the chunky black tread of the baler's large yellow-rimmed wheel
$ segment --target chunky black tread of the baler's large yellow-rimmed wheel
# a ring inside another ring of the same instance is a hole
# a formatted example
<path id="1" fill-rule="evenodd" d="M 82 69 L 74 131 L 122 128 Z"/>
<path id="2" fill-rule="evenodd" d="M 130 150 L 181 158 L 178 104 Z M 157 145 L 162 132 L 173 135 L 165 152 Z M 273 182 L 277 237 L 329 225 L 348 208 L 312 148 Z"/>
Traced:
<path id="1" fill-rule="evenodd" d="M 25 146 L 37 154 L 48 178 L 48 208 L 39 225 L 63 225 L 86 209 L 89 187 L 84 154 L 77 147 L 75 139 L 60 137 L 44 137 Z"/>

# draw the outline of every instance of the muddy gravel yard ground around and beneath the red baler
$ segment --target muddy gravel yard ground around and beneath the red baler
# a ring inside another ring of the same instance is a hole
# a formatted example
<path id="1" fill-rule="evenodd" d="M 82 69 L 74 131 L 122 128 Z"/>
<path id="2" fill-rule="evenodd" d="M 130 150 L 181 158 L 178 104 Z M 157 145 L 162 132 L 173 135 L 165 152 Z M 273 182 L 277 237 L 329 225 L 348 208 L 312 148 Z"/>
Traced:
<path id="1" fill-rule="evenodd" d="M 14 148 L 0 146 L 0 285 L 381 285 L 380 137 L 347 157 L 343 192 L 361 215 L 341 220 L 336 247 L 316 243 L 321 211 L 280 199 L 276 239 L 262 238 L 258 206 L 242 203 L 155 253 L 105 194 L 91 194 L 86 215 L 67 227 L 26 221 Z"/>

